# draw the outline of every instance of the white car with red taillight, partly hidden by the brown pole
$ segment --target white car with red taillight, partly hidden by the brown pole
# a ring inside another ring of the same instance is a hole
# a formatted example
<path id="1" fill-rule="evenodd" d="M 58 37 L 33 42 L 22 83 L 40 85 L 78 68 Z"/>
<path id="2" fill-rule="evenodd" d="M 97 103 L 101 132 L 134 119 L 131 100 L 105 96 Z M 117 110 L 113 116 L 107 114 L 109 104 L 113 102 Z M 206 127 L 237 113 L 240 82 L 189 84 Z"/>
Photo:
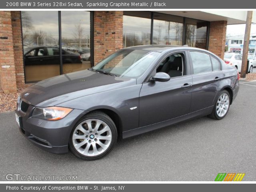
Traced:
<path id="1" fill-rule="evenodd" d="M 225 53 L 224 54 L 224 62 L 228 65 L 235 66 L 238 72 L 241 72 L 242 67 L 242 55 L 237 53 Z M 249 63 L 248 73 L 252 73 L 253 64 Z"/>

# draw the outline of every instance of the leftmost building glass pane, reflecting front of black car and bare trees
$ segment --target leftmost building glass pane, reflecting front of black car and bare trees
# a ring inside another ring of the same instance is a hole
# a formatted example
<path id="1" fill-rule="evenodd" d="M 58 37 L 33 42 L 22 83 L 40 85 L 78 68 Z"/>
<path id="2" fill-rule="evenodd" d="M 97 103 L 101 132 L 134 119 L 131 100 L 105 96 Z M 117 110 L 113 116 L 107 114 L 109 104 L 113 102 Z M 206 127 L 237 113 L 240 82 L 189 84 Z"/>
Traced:
<path id="1" fill-rule="evenodd" d="M 21 16 L 26 82 L 59 75 L 59 57 L 47 49 L 58 46 L 58 12 L 22 11 Z"/>

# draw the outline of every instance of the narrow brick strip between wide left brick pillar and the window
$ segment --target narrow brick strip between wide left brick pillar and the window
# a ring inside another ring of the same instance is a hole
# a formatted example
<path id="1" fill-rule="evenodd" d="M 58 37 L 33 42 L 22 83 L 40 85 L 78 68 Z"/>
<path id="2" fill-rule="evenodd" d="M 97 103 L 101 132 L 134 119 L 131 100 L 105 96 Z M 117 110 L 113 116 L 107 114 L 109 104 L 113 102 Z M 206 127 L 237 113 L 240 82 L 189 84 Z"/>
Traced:
<path id="1" fill-rule="evenodd" d="M 22 52 L 22 31 L 20 11 L 11 11 L 12 16 L 12 41 L 14 50 L 14 64 L 17 88 L 24 88 L 24 67 Z"/>

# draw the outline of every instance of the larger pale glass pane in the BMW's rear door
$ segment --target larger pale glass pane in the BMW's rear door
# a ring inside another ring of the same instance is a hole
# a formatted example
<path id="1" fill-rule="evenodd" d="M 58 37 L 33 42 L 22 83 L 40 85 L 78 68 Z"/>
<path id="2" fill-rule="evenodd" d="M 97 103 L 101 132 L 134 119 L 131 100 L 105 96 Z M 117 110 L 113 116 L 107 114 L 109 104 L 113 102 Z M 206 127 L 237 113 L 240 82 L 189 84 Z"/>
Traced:
<path id="1" fill-rule="evenodd" d="M 212 71 L 210 56 L 206 53 L 191 51 L 194 74 Z"/>

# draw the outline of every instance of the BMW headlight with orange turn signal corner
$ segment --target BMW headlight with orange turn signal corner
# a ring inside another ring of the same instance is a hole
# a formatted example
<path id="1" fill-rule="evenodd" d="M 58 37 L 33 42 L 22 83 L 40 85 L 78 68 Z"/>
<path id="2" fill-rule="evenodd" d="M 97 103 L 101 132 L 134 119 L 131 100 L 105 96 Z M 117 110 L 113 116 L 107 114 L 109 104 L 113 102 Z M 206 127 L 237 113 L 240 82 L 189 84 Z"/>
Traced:
<path id="1" fill-rule="evenodd" d="M 72 110 L 73 109 L 64 107 L 36 107 L 33 111 L 32 117 L 55 121 L 66 117 Z"/>

